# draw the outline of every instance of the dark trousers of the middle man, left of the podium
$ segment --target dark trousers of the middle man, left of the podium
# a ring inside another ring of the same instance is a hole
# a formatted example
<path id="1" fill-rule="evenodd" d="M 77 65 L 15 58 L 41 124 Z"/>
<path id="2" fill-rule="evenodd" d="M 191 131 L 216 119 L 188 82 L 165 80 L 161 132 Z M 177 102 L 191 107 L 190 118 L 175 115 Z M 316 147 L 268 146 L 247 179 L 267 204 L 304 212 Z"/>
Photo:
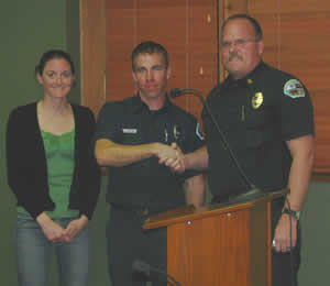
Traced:
<path id="1" fill-rule="evenodd" d="M 112 286 L 146 285 L 146 277 L 132 272 L 141 260 L 167 272 L 167 230 L 142 230 L 145 217 L 135 211 L 111 208 L 107 226 L 108 271 Z M 153 286 L 166 286 L 164 275 L 152 275 Z"/>

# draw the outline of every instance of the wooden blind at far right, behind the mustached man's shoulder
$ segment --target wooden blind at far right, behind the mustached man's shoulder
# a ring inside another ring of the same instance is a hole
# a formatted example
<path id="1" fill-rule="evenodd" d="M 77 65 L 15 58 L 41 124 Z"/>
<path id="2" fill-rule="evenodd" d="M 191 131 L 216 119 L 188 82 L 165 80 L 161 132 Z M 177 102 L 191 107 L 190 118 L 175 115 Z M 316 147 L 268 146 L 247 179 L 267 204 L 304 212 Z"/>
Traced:
<path id="1" fill-rule="evenodd" d="M 315 173 L 330 173 L 330 2 L 250 0 L 262 24 L 265 62 L 300 78 L 315 107 Z"/>

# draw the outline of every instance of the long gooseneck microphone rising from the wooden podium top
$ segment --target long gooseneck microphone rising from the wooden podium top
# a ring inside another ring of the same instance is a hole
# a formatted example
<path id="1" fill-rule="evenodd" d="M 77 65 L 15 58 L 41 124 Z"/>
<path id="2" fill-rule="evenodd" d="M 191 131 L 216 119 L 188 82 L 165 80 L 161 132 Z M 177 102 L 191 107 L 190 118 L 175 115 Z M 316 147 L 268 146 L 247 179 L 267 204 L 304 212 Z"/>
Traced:
<path id="1" fill-rule="evenodd" d="M 205 100 L 205 98 L 202 97 L 202 94 L 200 90 L 195 89 L 195 88 L 173 88 L 169 91 L 169 96 L 172 98 L 177 98 L 180 97 L 182 95 L 194 95 L 197 96 L 200 101 L 202 102 L 204 107 L 206 108 L 206 110 L 208 111 L 212 123 L 215 124 L 220 139 L 224 145 L 224 147 L 229 151 L 230 157 L 232 158 L 232 161 L 234 162 L 237 168 L 239 169 L 241 176 L 244 178 L 244 183 L 246 185 L 246 187 L 249 188 L 248 191 L 233 196 L 233 197 L 229 197 L 229 202 L 241 202 L 241 201 L 245 201 L 249 199 L 254 199 L 254 198 L 260 198 L 263 196 L 266 196 L 267 194 L 261 189 L 258 189 L 246 176 L 245 172 L 243 170 L 241 164 L 239 163 L 237 156 L 234 155 L 232 148 L 230 147 L 230 144 L 228 143 L 228 140 L 226 138 L 226 135 L 223 134 L 223 132 L 221 131 L 209 105 L 207 103 L 207 101 Z"/>

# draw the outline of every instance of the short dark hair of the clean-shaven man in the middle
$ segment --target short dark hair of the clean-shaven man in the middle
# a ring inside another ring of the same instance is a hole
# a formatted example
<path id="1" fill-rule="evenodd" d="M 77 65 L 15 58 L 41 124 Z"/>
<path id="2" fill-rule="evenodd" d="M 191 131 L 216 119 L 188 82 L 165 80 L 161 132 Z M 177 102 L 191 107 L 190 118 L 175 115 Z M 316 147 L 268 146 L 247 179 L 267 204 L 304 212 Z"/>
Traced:
<path id="1" fill-rule="evenodd" d="M 162 46 L 158 43 L 147 41 L 147 42 L 142 42 L 132 52 L 132 69 L 133 72 L 135 70 L 135 58 L 140 54 L 162 54 L 165 63 L 165 68 L 167 69 L 168 67 L 168 54 L 167 51 L 164 46 Z"/>

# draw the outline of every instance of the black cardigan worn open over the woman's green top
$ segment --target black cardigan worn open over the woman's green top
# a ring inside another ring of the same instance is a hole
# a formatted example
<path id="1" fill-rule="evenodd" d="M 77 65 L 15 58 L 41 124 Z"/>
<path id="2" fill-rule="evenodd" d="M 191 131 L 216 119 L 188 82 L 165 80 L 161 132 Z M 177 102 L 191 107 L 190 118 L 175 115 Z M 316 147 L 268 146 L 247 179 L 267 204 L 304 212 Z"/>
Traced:
<path id="1" fill-rule="evenodd" d="M 95 119 L 85 107 L 72 105 L 75 118 L 75 169 L 69 208 L 91 219 L 100 190 L 100 169 L 94 156 Z M 18 107 L 7 127 L 8 184 L 18 205 L 35 219 L 54 210 L 50 197 L 44 143 L 37 122 L 36 102 Z"/>

